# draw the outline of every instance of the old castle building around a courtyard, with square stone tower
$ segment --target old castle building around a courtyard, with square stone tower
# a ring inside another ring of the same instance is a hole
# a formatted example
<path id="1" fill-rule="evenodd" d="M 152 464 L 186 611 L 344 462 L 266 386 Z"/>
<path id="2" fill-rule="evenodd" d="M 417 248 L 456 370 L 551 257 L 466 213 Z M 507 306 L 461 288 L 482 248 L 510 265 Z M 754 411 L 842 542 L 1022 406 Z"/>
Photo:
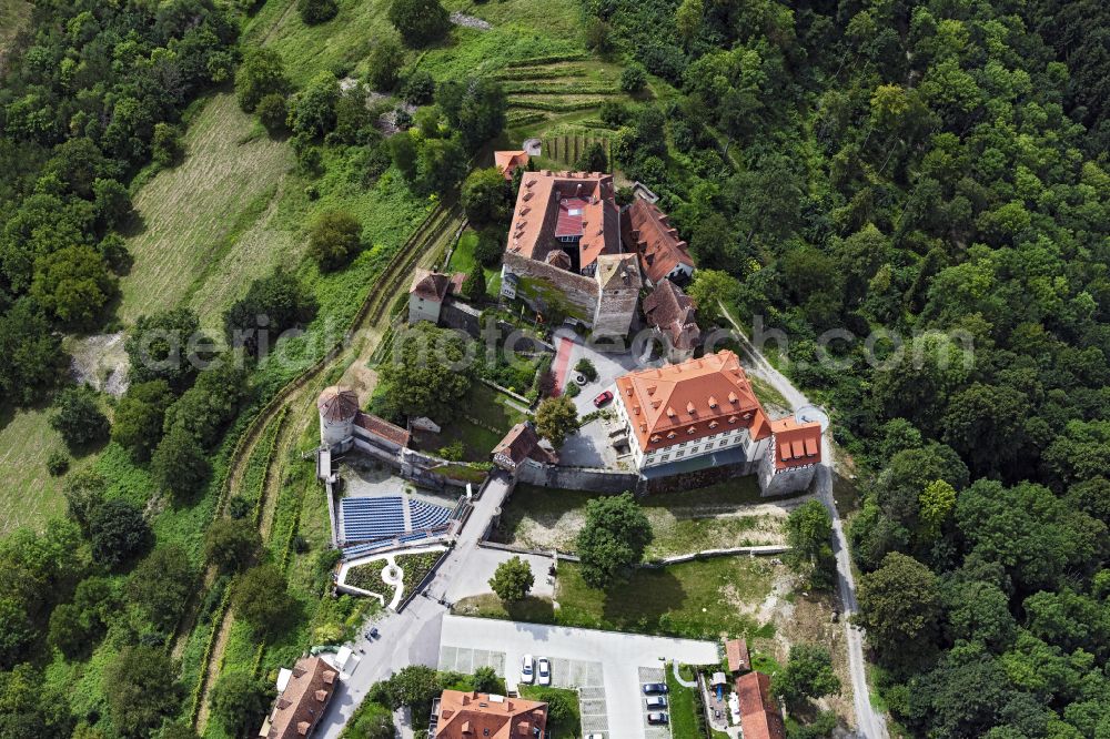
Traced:
<path id="1" fill-rule="evenodd" d="M 601 335 L 624 335 L 643 285 L 635 255 L 620 249 L 613 175 L 527 172 L 513 211 L 502 266 L 502 296 L 541 315 Z"/>

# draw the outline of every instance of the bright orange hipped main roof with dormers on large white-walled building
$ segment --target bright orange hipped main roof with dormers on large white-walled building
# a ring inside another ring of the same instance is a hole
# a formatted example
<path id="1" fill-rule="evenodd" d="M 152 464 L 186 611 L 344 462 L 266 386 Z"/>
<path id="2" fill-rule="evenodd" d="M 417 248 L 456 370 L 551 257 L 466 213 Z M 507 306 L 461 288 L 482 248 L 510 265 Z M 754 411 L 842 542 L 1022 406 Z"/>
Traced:
<path id="1" fill-rule="evenodd" d="M 770 434 L 763 406 L 729 351 L 617 377 L 640 449 L 654 452 L 733 428 L 759 441 Z"/>

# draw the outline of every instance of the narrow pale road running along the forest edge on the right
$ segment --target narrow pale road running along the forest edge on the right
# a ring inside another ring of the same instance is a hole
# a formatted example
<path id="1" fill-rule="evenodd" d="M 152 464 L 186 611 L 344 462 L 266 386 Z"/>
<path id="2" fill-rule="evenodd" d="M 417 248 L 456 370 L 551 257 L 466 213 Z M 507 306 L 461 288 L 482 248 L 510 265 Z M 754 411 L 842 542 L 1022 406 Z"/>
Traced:
<path id="1" fill-rule="evenodd" d="M 722 306 L 724 312 L 724 306 Z M 737 334 L 748 358 L 757 372 L 767 379 L 775 389 L 783 394 L 788 403 L 798 409 L 810 405 L 809 399 L 800 393 L 789 379 L 779 373 L 767 360 L 756 351 L 744 331 L 736 325 Z M 844 522 L 836 509 L 833 498 L 833 449 L 827 438 L 821 438 L 821 466 L 816 477 L 817 495 L 829 515 L 833 517 L 833 554 L 836 555 L 837 589 L 840 594 L 840 607 L 844 613 L 840 622 L 844 625 L 845 641 L 848 648 L 848 672 L 851 677 L 851 692 L 856 708 L 856 733 L 867 739 L 886 739 L 886 718 L 871 706 L 867 686 L 867 660 L 864 659 L 864 630 L 851 625 L 851 617 L 859 611 L 856 601 L 856 578 L 851 571 L 851 558 L 848 550 L 848 539 L 844 533 Z"/>

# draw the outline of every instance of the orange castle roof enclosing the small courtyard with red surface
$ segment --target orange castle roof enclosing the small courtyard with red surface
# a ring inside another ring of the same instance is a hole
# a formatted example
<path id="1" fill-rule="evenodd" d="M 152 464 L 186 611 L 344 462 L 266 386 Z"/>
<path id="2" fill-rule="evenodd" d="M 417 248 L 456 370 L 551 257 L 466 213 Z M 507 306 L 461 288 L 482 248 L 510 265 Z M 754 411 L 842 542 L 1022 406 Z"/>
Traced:
<path id="1" fill-rule="evenodd" d="M 620 252 L 620 211 L 613 175 L 597 172 L 527 172 L 521 180 L 506 251 L 545 261 L 548 252 L 578 239 L 578 269 L 601 254 Z"/>

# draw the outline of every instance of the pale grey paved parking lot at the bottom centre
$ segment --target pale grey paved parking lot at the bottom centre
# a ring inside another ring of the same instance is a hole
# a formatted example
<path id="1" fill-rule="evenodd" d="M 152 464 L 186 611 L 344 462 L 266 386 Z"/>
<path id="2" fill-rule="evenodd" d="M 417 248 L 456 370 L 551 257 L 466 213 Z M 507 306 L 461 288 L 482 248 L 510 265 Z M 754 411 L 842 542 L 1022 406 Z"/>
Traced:
<path id="1" fill-rule="evenodd" d="M 490 665 L 515 690 L 526 654 L 551 660 L 554 687 L 578 689 L 583 733 L 602 732 L 606 739 L 668 739 L 667 727 L 647 725 L 640 685 L 663 682 L 665 661 L 719 660 L 712 641 L 462 616 L 443 619 L 440 669 L 466 672 Z"/>

